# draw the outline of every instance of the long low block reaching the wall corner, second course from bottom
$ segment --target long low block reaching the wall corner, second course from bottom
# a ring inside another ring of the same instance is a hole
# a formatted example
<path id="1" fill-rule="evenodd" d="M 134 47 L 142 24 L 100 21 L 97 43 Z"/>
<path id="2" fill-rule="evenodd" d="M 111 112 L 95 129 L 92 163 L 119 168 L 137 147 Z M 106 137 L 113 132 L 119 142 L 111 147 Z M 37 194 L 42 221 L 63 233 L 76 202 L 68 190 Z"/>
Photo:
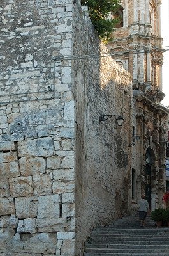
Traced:
<path id="1" fill-rule="evenodd" d="M 36 220 L 38 232 L 73 232 L 75 231 L 75 219 L 43 218 Z"/>

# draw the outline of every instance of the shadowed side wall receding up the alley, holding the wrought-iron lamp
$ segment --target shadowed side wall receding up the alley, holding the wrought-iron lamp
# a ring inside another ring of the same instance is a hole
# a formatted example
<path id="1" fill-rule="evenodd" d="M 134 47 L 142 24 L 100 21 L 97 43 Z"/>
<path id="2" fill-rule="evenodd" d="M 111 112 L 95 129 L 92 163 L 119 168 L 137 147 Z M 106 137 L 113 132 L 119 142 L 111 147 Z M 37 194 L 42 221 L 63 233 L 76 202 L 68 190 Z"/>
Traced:
<path id="1" fill-rule="evenodd" d="M 92 228 L 121 217 L 131 206 L 131 77 L 111 57 L 103 57 L 107 47 L 85 10 L 77 7 L 73 15 L 76 255 L 82 255 Z M 99 122 L 99 115 L 113 114 L 124 116 L 122 127 L 116 116 Z"/>

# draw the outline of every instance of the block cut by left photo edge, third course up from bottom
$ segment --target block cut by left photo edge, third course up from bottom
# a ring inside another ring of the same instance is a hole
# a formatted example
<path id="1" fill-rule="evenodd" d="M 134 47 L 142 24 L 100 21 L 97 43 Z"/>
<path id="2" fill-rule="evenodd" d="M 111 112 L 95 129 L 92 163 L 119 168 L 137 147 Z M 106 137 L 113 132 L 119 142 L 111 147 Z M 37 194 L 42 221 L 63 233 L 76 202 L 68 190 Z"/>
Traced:
<path id="1" fill-rule="evenodd" d="M 15 214 L 13 198 L 0 198 L 0 215 Z"/>

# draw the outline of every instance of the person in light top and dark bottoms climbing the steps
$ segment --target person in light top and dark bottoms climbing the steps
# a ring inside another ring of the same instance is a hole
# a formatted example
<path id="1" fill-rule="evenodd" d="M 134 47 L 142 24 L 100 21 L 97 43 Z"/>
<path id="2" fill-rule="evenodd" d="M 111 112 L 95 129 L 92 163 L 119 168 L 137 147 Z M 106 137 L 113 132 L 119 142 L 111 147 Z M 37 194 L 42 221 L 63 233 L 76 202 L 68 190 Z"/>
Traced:
<path id="1" fill-rule="evenodd" d="M 145 195 L 142 195 L 142 199 L 140 199 L 138 202 L 139 220 L 141 221 L 142 226 L 145 226 L 145 219 L 148 210 L 149 203 L 147 202 L 147 200 L 145 200 Z"/>

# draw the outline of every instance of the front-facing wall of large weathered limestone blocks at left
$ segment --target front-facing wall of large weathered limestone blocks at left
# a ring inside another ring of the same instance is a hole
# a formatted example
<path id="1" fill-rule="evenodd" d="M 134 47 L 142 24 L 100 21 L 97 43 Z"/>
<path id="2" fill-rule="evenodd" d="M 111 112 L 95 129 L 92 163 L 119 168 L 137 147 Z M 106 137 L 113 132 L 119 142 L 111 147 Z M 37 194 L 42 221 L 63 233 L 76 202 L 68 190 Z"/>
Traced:
<path id="1" fill-rule="evenodd" d="M 72 5 L 1 1 L 1 255 L 74 254 Z"/>

